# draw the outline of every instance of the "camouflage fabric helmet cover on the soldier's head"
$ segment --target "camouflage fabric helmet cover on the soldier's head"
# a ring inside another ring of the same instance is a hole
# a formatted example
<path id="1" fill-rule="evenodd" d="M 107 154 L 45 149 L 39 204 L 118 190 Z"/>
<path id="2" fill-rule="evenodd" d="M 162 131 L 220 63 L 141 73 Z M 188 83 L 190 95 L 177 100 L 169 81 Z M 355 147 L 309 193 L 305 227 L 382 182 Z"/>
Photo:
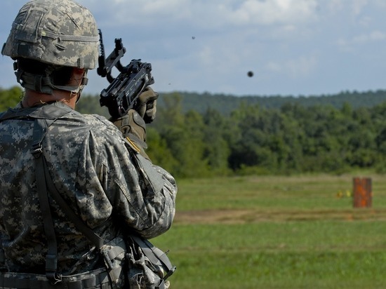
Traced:
<path id="1" fill-rule="evenodd" d="M 1 54 L 94 69 L 98 28 L 87 8 L 71 0 L 33 0 L 20 9 Z"/>

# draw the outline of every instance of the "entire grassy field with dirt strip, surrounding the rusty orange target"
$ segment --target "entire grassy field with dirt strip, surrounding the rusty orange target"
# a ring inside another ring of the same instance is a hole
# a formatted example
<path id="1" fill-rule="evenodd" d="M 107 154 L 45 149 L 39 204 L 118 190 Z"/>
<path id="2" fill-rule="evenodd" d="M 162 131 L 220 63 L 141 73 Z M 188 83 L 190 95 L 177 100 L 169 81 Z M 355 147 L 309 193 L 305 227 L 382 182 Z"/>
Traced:
<path id="1" fill-rule="evenodd" d="M 154 244 L 171 288 L 386 288 L 386 176 L 353 208 L 357 175 L 180 180 L 173 227 Z"/>

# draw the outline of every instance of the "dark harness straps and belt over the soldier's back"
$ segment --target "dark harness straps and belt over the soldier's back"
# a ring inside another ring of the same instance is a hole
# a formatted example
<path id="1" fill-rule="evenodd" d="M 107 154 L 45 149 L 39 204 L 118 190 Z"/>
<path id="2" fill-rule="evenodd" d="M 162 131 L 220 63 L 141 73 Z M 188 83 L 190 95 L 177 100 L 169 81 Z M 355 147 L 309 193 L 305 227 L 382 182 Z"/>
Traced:
<path id="1" fill-rule="evenodd" d="M 67 105 L 58 103 L 21 110 L 8 109 L 8 111 L 0 114 L 0 121 L 7 119 L 34 121 L 31 154 L 35 160 L 36 188 L 39 194 L 41 213 L 44 220 L 44 231 L 48 241 L 46 275 L 6 271 L 4 250 L 0 243 L 0 288 L 117 288 L 119 278 L 122 278 L 121 271 L 126 253 L 124 240 L 117 238 L 107 243 L 89 229 L 62 199 L 59 191 L 53 184 L 46 165 L 42 142 L 48 127 L 51 126 L 56 119 L 69 113 L 78 114 L 78 112 L 67 107 Z M 100 253 L 105 260 L 105 268 L 72 276 L 61 276 L 58 273 L 58 248 L 48 201 L 48 191 L 50 191 L 51 196 L 58 202 L 69 220 L 74 222 L 79 231 L 82 231 L 97 248 L 100 248 Z M 123 283 L 123 281 L 121 281 L 121 283 Z"/>

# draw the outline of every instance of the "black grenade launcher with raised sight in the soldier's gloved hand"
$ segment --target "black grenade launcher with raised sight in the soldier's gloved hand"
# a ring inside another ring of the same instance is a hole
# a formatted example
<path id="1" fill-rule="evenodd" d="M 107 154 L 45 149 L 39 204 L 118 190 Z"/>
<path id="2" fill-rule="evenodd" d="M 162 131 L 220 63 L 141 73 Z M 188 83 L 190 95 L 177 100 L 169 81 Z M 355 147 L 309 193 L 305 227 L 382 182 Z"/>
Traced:
<path id="1" fill-rule="evenodd" d="M 152 65 L 138 60 L 131 60 L 125 67 L 121 65 L 121 57 L 124 56 L 126 48 L 122 44 L 122 39 L 115 39 L 115 48 L 112 53 L 105 58 L 105 47 L 100 35 L 100 55 L 98 58 L 97 72 L 100 76 L 106 77 L 109 86 L 100 93 L 100 106 L 106 106 L 109 114 L 117 119 L 128 113 L 133 108 L 135 101 L 145 88 L 154 83 Z M 117 67 L 120 72 L 114 78 L 111 75 L 113 67 Z"/>

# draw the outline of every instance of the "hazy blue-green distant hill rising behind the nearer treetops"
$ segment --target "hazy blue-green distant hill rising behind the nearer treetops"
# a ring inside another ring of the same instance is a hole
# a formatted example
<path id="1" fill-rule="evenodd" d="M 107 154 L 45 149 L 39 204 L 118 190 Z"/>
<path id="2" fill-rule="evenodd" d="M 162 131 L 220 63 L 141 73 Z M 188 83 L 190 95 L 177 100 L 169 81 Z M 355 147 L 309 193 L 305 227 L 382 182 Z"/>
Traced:
<path id="1" fill-rule="evenodd" d="M 193 109 L 197 112 L 205 112 L 206 109 L 216 109 L 222 114 L 229 114 L 235 108 L 238 108 L 242 102 L 248 105 L 258 104 L 261 107 L 279 109 L 284 104 L 298 103 L 305 107 L 315 105 L 332 105 L 340 108 L 343 104 L 349 103 L 352 108 L 358 107 L 373 107 L 382 102 L 386 102 L 386 90 L 368 91 L 358 93 L 356 91 L 345 91 L 335 95 L 312 95 L 312 96 L 233 96 L 211 93 L 160 93 L 158 104 L 164 105 L 163 98 L 168 95 L 179 95 L 181 98 L 182 109 L 186 112 Z"/>

